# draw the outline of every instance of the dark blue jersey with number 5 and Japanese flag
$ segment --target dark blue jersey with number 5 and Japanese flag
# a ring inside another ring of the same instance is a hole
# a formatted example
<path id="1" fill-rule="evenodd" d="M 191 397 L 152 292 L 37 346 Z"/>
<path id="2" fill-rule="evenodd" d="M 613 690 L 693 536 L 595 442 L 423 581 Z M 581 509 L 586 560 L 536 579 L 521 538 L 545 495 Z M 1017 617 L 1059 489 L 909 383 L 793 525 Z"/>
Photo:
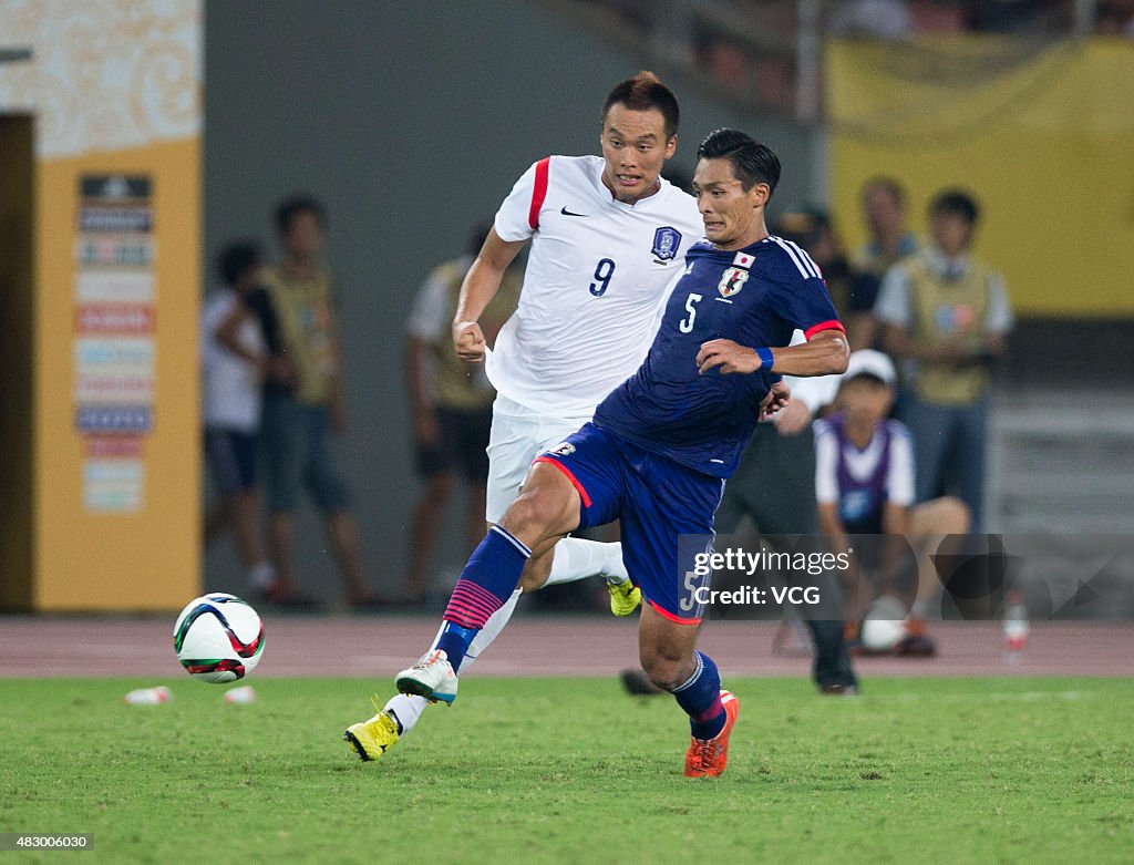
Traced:
<path id="1" fill-rule="evenodd" d="M 701 344 L 730 339 L 780 347 L 795 330 L 843 329 L 819 268 L 776 236 L 723 252 L 693 246 L 642 366 L 598 407 L 594 423 L 638 447 L 713 477 L 728 477 L 779 378 L 767 371 L 701 375 Z"/>

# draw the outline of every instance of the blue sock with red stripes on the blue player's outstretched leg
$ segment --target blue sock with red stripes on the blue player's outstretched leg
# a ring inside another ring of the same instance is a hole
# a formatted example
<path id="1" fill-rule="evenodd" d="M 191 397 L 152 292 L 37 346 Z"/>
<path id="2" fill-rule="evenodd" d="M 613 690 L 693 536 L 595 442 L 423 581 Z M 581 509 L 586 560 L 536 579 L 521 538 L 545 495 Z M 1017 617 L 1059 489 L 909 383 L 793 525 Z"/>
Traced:
<path id="1" fill-rule="evenodd" d="M 492 526 L 473 550 L 452 588 L 437 642 L 454 670 L 460 668 L 468 644 L 484 622 L 511 597 L 531 557 L 532 551 L 500 526 Z"/>

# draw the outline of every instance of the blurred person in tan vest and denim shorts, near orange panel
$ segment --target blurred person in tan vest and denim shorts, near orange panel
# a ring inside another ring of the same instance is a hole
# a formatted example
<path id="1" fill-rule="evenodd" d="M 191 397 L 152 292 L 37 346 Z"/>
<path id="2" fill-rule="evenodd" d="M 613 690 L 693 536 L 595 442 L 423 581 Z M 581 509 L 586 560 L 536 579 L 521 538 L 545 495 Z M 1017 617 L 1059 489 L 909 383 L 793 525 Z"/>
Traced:
<path id="1" fill-rule="evenodd" d="M 284 246 L 279 264 L 261 280 L 278 322 L 280 354 L 293 375 L 269 376 L 264 387 L 261 446 L 266 463 L 268 538 L 277 583 L 266 601 L 304 603 L 295 580 L 295 510 L 306 487 L 327 519 L 331 553 L 355 608 L 381 603 L 363 570 L 358 529 L 347 486 L 336 468 L 331 435 L 347 431 L 342 362 L 331 275 L 320 263 L 327 223 L 323 205 L 296 196 L 276 211 Z"/>

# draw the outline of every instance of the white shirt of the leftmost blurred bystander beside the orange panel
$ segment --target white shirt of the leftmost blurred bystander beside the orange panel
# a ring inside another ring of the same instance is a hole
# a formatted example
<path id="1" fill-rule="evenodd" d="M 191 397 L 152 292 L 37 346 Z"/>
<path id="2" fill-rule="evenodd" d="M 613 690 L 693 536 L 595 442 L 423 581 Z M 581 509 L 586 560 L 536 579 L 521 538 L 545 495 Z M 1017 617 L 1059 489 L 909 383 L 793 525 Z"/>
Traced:
<path id="1" fill-rule="evenodd" d="M 226 288 L 209 298 L 201 314 L 201 414 L 206 427 L 254 433 L 260 429 L 260 376 L 217 339 L 217 328 L 237 303 L 236 292 Z M 264 353 L 254 317 L 240 323 L 237 340 L 249 351 Z"/>

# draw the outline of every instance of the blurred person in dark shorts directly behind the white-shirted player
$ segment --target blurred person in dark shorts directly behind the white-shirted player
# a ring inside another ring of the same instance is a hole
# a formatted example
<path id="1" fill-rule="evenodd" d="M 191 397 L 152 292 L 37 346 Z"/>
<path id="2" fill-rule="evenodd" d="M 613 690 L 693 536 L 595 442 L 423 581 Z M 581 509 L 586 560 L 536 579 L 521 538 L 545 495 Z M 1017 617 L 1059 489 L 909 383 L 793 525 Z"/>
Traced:
<path id="1" fill-rule="evenodd" d="M 413 415 L 417 474 L 425 486 L 414 508 L 406 571 L 405 601 L 421 604 L 429 593 L 429 560 L 458 474 L 465 482 L 465 553 L 484 535 L 489 431 L 496 390 L 483 364 L 458 359 L 450 325 L 457 313 L 460 283 L 484 245 L 491 222 L 477 226 L 468 252 L 441 264 L 417 291 L 406 339 L 406 389 Z M 522 269 L 513 262 L 500 290 L 482 313 L 484 337 L 497 333 L 519 302 Z"/>

